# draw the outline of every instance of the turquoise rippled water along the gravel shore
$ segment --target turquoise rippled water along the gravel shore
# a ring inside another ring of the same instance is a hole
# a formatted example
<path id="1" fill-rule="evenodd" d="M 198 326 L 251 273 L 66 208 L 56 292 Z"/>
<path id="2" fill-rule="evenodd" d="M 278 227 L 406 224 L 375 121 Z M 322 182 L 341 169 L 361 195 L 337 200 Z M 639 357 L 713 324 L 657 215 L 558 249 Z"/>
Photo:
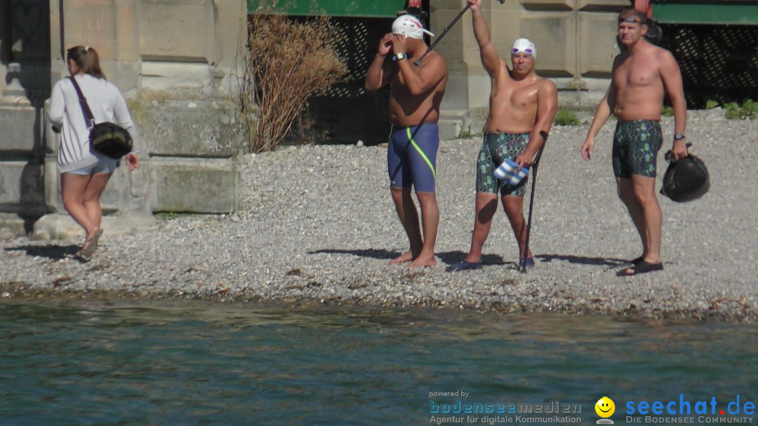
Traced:
<path id="1" fill-rule="evenodd" d="M 629 401 L 758 403 L 758 328 L 747 325 L 5 302 L 0 335 L 2 425 L 436 424 L 430 411 L 458 401 L 573 404 L 568 422 L 540 424 L 595 424 L 601 396 L 628 424 Z M 430 396 L 459 390 L 468 395 Z M 537 424 L 498 415 L 487 424 Z"/>

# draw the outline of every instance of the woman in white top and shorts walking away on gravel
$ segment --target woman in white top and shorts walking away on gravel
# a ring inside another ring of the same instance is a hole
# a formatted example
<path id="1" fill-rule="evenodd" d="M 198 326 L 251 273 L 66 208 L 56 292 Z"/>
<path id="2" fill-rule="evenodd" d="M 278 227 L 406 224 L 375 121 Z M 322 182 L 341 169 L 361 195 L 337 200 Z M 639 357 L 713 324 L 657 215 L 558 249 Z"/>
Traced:
<path id="1" fill-rule="evenodd" d="M 100 195 L 121 160 L 92 149 L 86 119 L 74 87 L 74 80 L 86 98 L 96 123 L 111 122 L 126 129 L 134 137 L 134 124 L 121 92 L 105 80 L 99 56 L 89 46 L 76 46 L 67 51 L 70 77 L 55 83 L 48 113 L 53 129 L 61 133 L 58 147 L 58 172 L 61 173 L 63 205 L 86 233 L 84 245 L 76 254 L 84 260 L 95 253 L 102 235 Z M 124 160 L 130 171 L 139 160 L 134 153 Z"/>

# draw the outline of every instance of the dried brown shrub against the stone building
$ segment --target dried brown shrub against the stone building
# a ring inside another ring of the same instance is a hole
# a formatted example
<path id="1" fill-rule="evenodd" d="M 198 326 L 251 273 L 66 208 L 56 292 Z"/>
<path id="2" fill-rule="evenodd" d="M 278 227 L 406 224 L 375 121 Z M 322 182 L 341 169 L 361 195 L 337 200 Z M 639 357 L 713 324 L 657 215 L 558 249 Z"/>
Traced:
<path id="1" fill-rule="evenodd" d="M 324 15 L 303 21 L 282 14 L 249 15 L 241 98 L 251 151 L 276 148 L 301 117 L 308 98 L 346 76 L 346 64 L 335 50 L 340 37 Z M 260 110 L 257 126 L 251 125 L 253 104 Z"/>

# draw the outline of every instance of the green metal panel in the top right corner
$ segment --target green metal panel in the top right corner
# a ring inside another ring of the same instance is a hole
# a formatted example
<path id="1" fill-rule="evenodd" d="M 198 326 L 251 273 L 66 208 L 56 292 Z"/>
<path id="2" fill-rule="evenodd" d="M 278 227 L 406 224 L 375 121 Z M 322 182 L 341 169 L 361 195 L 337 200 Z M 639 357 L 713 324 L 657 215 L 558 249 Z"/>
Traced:
<path id="1" fill-rule="evenodd" d="M 660 23 L 758 25 L 758 2 L 752 0 L 722 0 L 720 2 L 654 0 L 653 18 Z"/>

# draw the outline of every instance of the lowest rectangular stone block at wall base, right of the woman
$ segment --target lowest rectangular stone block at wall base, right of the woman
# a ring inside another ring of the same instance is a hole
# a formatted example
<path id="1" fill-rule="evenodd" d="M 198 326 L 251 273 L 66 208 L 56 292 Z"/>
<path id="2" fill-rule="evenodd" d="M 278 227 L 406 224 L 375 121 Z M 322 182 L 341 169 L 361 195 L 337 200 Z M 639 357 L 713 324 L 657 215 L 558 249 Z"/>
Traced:
<path id="1" fill-rule="evenodd" d="M 152 157 L 153 212 L 235 213 L 242 173 L 235 160 Z"/>

